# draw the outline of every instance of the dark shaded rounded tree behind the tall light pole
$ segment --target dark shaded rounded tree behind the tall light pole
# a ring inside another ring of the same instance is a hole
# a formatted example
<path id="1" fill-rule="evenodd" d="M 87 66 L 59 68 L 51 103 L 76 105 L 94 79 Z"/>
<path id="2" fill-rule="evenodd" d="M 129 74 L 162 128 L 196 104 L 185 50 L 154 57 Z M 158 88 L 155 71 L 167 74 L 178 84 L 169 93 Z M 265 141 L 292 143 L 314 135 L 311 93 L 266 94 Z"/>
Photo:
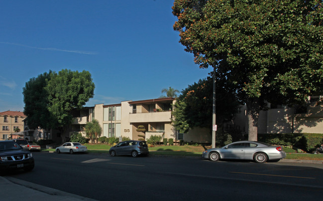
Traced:
<path id="1" fill-rule="evenodd" d="M 207 77 L 189 85 L 177 98 L 172 112 L 173 126 L 181 133 L 187 133 L 194 127 L 212 128 L 213 78 Z M 237 113 L 239 101 L 231 84 L 225 78 L 217 78 L 216 84 L 216 122 L 233 119 Z M 211 133 L 210 133 L 211 134 Z"/>

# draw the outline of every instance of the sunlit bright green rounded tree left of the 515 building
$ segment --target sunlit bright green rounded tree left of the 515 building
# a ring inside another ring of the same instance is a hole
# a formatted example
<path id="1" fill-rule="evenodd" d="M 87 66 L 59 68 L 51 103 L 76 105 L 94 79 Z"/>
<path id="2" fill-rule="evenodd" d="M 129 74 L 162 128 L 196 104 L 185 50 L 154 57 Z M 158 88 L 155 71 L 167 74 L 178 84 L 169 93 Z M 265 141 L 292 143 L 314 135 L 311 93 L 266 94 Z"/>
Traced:
<path id="1" fill-rule="evenodd" d="M 63 69 L 50 75 L 45 87 L 49 103 L 47 108 L 55 116 L 63 140 L 67 126 L 73 121 L 71 110 L 82 108 L 93 98 L 94 88 L 91 73 L 86 70 Z"/>

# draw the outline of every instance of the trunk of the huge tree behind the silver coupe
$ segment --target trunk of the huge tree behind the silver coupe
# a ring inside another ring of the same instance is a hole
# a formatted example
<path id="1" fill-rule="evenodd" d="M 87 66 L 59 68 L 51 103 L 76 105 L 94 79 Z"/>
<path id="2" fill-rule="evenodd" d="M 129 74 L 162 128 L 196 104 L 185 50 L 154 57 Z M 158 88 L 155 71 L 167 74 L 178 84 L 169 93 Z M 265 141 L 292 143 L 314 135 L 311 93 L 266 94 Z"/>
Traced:
<path id="1" fill-rule="evenodd" d="M 257 141 L 259 111 L 259 99 L 250 98 L 247 102 L 248 140 L 250 141 Z"/>

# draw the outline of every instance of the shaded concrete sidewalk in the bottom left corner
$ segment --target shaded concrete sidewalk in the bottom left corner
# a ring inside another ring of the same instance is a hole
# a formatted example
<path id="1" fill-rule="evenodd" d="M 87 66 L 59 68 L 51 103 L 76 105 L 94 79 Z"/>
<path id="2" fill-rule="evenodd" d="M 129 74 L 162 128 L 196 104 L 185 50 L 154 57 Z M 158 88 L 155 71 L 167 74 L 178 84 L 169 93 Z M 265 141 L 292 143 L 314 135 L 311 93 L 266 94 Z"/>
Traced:
<path id="1" fill-rule="evenodd" d="M 0 177 L 0 189 L 7 201 L 96 201 L 15 178 Z"/>

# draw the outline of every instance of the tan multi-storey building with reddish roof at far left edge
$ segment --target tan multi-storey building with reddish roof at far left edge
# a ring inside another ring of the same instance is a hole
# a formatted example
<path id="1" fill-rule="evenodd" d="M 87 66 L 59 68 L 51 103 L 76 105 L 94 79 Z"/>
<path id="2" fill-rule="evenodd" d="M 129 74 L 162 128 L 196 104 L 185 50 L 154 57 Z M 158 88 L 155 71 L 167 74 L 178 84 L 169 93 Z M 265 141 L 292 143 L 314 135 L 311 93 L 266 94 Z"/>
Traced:
<path id="1" fill-rule="evenodd" d="M 22 132 L 25 118 L 26 116 L 20 111 L 0 112 L 0 140 L 12 138 L 10 134 L 14 133 L 15 128 L 19 128 Z"/>

